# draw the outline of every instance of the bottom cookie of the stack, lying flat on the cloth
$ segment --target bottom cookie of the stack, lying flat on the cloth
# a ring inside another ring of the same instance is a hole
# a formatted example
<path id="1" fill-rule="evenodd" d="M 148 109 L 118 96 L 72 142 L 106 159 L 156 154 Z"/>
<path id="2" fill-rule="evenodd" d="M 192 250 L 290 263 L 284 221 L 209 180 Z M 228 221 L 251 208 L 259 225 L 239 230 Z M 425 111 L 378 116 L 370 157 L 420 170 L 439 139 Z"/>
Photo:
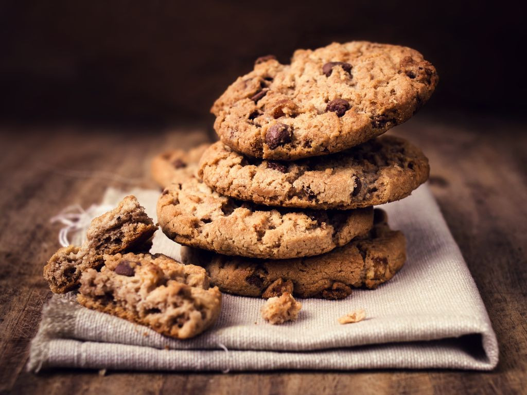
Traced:
<path id="1" fill-rule="evenodd" d="M 222 292 L 249 297 L 276 297 L 290 292 L 299 298 L 344 299 L 353 287 L 376 288 L 391 279 L 406 259 L 406 242 L 389 229 L 386 215 L 375 210 L 367 238 L 323 255 L 288 260 L 258 260 L 184 248 L 182 261 L 203 265 L 211 284 Z"/>

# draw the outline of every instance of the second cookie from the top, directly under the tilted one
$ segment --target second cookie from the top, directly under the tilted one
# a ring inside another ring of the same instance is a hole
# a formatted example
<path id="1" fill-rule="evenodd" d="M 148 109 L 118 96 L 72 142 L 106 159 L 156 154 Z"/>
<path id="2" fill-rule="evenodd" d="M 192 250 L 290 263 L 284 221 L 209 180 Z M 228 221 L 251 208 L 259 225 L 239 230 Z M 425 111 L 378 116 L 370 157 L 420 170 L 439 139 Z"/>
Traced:
<path id="1" fill-rule="evenodd" d="M 198 175 L 218 193 L 258 204 L 355 209 L 408 196 L 428 179 L 429 171 L 417 147 L 382 136 L 296 162 L 248 160 L 217 142 L 203 153 Z"/>

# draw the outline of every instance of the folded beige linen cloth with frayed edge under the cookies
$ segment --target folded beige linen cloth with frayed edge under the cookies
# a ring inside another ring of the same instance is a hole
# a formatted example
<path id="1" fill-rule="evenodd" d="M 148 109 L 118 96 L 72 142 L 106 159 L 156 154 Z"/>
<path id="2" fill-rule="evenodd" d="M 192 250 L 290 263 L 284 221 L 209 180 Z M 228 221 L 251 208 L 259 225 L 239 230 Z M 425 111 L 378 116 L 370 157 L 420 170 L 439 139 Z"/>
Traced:
<path id="1" fill-rule="evenodd" d="M 158 191 L 109 189 L 102 205 L 114 206 L 126 194 L 155 221 Z M 493 369 L 498 348 L 489 316 L 428 186 L 383 209 L 392 229 L 406 235 L 407 262 L 376 290 L 357 289 L 337 301 L 300 300 L 298 321 L 283 325 L 262 320 L 265 300 L 224 294 L 216 325 L 190 340 L 86 309 L 74 294 L 54 295 L 43 309 L 28 369 Z M 85 232 L 77 228 L 74 242 Z M 151 252 L 178 259 L 180 246 L 158 231 Z M 366 320 L 337 322 L 358 308 Z"/>

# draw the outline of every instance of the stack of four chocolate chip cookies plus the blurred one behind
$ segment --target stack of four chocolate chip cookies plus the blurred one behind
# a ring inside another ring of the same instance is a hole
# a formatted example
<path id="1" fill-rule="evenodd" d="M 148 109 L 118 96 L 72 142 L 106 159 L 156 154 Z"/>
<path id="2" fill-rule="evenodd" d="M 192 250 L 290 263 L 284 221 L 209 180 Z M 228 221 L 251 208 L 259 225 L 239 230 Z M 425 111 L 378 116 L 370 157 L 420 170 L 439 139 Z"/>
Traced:
<path id="1" fill-rule="evenodd" d="M 423 153 L 379 135 L 410 118 L 437 84 L 411 48 L 368 42 L 261 57 L 214 103 L 221 141 L 152 163 L 158 221 L 191 247 L 221 291 L 346 298 L 405 261 L 405 239 L 374 205 L 426 181 Z"/>

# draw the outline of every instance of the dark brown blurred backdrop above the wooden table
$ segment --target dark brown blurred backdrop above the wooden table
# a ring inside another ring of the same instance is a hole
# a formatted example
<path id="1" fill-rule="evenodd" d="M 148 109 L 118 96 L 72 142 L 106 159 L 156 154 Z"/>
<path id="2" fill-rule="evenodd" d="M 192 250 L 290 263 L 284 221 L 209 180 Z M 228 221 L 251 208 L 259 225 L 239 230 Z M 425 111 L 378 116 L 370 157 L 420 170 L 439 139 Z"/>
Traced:
<path id="1" fill-rule="evenodd" d="M 0 3 L 0 121 L 210 125 L 256 57 L 350 40 L 422 52 L 441 78 L 422 112 L 524 112 L 515 3 L 26 0 Z"/>

